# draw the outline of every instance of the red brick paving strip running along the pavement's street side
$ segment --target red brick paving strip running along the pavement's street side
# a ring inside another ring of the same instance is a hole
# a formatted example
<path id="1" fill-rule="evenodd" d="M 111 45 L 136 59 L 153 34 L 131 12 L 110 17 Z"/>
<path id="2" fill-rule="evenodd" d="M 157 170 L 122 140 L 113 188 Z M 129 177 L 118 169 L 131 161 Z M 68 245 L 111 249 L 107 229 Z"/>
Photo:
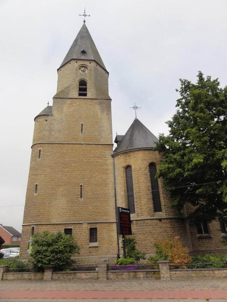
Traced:
<path id="1" fill-rule="evenodd" d="M 69 291 L 0 290 L 0 298 L 21 299 L 227 299 L 227 290 Z"/>

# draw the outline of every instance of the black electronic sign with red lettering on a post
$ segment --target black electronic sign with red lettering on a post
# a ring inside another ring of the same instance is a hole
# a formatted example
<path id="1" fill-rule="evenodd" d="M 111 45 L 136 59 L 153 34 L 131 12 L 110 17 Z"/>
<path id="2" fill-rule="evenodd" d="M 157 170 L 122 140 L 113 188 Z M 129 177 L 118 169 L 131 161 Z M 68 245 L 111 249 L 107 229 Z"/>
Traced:
<path id="1" fill-rule="evenodd" d="M 123 207 L 117 207 L 117 230 L 118 235 L 122 235 L 123 256 L 126 258 L 124 235 L 132 235 L 130 210 Z"/>

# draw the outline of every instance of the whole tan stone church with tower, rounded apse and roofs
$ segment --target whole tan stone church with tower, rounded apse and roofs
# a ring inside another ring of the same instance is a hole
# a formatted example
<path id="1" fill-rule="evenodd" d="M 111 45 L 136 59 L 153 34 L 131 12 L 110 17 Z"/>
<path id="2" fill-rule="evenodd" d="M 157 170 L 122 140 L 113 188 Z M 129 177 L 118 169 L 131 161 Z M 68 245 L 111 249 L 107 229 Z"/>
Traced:
<path id="1" fill-rule="evenodd" d="M 221 252 L 218 222 L 189 227 L 169 208 L 162 180 L 155 179 L 161 155 L 157 138 L 135 118 L 113 151 L 109 73 L 85 25 L 58 68 L 53 106 L 35 117 L 21 238 L 48 230 L 72 234 L 81 263 L 116 259 L 116 206 L 129 207 L 138 249 L 154 254 L 156 238 L 180 236 L 192 253 Z"/>

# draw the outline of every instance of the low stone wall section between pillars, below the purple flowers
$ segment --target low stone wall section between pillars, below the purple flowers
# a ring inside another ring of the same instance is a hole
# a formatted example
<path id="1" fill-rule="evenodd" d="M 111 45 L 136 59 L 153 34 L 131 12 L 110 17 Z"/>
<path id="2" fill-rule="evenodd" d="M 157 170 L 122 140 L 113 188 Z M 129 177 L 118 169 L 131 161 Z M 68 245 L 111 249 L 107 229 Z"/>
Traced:
<path id="1" fill-rule="evenodd" d="M 158 269 L 144 269 L 134 271 L 107 271 L 107 279 L 130 279 L 130 278 L 155 278 L 160 279 Z"/>

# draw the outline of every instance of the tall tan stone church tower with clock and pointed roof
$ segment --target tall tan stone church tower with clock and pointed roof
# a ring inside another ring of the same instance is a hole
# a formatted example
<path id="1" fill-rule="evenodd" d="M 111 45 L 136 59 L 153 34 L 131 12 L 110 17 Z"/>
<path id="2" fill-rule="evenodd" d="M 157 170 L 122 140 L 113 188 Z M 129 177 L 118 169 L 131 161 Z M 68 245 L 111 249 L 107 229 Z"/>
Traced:
<path id="1" fill-rule="evenodd" d="M 35 117 L 21 256 L 32 234 L 72 234 L 87 256 L 116 258 L 108 72 L 85 25 L 58 68 L 53 106 Z"/>

